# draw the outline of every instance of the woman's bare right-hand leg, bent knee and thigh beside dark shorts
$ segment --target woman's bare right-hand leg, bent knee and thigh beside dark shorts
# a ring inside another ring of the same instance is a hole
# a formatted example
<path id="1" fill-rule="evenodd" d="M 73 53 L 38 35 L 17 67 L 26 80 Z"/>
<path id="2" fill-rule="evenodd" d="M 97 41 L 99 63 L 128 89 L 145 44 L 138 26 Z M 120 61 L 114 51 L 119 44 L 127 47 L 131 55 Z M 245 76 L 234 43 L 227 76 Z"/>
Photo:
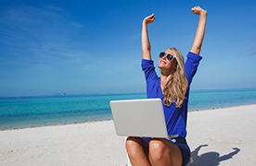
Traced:
<path id="1" fill-rule="evenodd" d="M 181 166 L 182 154 L 173 142 L 165 138 L 153 138 L 149 142 L 149 160 L 151 165 Z"/>

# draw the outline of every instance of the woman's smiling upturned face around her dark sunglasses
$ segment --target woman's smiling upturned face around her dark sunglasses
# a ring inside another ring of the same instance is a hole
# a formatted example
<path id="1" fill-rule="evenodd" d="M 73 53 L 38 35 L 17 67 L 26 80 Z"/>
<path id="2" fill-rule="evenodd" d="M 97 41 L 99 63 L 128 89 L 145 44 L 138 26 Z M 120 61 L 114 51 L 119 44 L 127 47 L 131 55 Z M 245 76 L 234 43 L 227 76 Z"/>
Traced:
<path id="1" fill-rule="evenodd" d="M 174 54 L 173 51 L 171 49 L 167 49 L 164 51 L 164 53 L 171 53 L 171 54 Z M 173 58 L 172 61 L 169 61 L 167 58 L 166 58 L 166 55 L 165 56 L 162 56 L 160 57 L 160 60 L 159 60 L 159 65 L 160 67 L 160 70 L 162 72 L 167 72 L 167 73 L 170 73 L 172 74 L 173 73 L 173 70 L 176 69 L 176 59 Z"/>

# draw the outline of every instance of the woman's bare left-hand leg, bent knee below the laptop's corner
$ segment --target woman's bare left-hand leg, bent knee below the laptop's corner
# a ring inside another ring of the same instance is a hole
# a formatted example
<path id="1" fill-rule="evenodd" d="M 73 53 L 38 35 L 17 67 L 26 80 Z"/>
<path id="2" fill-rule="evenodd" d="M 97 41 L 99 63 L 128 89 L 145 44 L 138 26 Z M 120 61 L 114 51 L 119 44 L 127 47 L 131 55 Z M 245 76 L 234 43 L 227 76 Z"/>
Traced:
<path id="1" fill-rule="evenodd" d="M 133 166 L 150 166 L 148 160 L 147 141 L 140 137 L 129 136 L 126 140 L 126 150 Z"/>

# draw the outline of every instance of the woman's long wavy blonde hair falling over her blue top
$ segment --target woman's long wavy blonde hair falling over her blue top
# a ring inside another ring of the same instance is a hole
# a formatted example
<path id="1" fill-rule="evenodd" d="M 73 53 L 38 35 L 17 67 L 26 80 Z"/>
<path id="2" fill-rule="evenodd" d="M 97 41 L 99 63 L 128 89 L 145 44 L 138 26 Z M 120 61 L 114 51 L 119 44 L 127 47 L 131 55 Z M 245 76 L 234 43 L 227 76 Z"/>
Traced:
<path id="1" fill-rule="evenodd" d="M 184 70 L 184 57 L 176 48 L 172 47 L 168 49 L 173 51 L 176 59 L 176 69 L 163 88 L 163 103 L 166 106 L 170 106 L 174 102 L 175 107 L 178 108 L 181 107 L 183 101 L 186 99 L 185 95 L 188 85 Z"/>

